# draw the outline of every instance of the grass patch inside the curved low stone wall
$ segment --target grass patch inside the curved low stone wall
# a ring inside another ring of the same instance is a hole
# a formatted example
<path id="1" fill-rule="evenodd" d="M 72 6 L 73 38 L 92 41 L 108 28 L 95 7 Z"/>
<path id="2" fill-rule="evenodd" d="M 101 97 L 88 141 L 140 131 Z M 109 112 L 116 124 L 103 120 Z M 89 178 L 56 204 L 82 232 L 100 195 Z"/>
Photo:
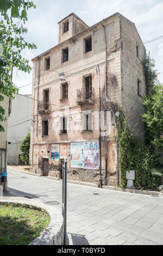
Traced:
<path id="1" fill-rule="evenodd" d="M 46 212 L 0 205 L 0 245 L 29 245 L 49 222 Z"/>

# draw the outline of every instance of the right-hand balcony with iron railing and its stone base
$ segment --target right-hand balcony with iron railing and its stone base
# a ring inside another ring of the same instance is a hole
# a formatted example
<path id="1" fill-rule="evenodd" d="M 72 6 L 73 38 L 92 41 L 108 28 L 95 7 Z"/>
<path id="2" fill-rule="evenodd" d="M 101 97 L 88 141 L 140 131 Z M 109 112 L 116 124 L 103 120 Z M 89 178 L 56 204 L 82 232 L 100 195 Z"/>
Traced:
<path id="1" fill-rule="evenodd" d="M 82 88 L 77 90 L 77 104 L 83 103 L 94 104 L 95 90 L 94 88 Z"/>

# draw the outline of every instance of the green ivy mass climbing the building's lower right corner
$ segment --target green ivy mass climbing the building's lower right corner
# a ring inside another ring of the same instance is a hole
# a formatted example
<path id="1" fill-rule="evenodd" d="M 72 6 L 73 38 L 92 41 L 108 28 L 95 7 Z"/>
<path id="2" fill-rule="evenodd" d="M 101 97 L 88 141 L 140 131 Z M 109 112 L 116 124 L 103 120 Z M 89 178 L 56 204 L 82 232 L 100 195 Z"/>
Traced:
<path id="1" fill-rule="evenodd" d="M 126 171 L 135 170 L 135 188 L 158 190 L 161 185 L 161 176 L 154 171 L 155 154 L 148 145 L 137 140 L 127 127 L 123 111 L 116 121 L 119 143 L 119 165 L 121 169 L 121 186 L 126 188 Z"/>

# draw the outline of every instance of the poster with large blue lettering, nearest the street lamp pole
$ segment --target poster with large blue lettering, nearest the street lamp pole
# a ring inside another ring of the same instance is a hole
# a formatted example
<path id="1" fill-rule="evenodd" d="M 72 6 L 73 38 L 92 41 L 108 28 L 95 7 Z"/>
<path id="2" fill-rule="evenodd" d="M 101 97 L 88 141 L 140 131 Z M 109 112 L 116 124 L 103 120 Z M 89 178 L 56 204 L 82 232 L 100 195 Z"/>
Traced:
<path id="1" fill-rule="evenodd" d="M 98 141 L 84 142 L 84 169 L 99 169 Z"/>

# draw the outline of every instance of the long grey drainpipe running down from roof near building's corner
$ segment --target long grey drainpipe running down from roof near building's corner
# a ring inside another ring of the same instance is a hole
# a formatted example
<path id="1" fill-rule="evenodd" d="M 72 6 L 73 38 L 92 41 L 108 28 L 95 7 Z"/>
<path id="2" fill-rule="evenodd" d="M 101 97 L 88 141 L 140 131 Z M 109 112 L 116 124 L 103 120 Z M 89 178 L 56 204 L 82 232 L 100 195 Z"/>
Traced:
<path id="1" fill-rule="evenodd" d="M 106 47 L 106 29 L 104 28 L 104 37 L 105 37 L 105 99 L 107 97 L 107 47 Z M 108 176 L 108 141 L 107 141 L 107 106 L 105 105 L 105 125 L 106 125 L 106 136 L 105 136 L 105 181 Z"/>

